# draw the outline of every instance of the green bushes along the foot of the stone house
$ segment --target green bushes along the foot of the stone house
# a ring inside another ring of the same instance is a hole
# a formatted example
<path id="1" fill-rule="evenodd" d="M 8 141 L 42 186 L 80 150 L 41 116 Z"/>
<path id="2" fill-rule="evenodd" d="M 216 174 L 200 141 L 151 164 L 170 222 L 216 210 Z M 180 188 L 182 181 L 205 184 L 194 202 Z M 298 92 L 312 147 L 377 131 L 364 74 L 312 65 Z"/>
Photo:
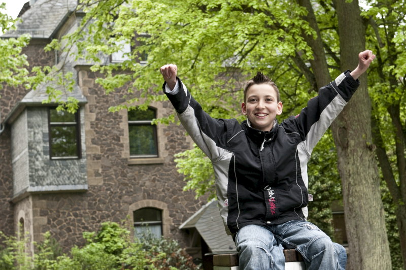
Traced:
<path id="1" fill-rule="evenodd" d="M 130 231 L 115 222 L 104 222 L 96 232 L 84 232 L 84 247 L 71 249 L 70 255 L 61 248 L 49 232 L 36 244 L 33 257 L 26 253 L 28 235 L 24 239 L 7 237 L 0 232 L 1 270 L 189 270 L 199 269 L 192 257 L 175 240 L 155 238 L 148 231 L 136 241 Z"/>

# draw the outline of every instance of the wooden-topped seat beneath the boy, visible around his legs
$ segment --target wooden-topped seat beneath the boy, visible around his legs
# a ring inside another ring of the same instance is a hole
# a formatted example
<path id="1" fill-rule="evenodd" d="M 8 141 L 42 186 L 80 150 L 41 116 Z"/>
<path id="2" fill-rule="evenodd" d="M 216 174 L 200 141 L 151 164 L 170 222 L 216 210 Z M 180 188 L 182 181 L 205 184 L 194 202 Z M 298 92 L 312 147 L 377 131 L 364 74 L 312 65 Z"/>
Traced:
<path id="1" fill-rule="evenodd" d="M 303 257 L 294 249 L 284 249 L 285 270 L 304 270 Z M 213 270 L 239 270 L 238 253 L 217 254 L 213 256 Z"/>

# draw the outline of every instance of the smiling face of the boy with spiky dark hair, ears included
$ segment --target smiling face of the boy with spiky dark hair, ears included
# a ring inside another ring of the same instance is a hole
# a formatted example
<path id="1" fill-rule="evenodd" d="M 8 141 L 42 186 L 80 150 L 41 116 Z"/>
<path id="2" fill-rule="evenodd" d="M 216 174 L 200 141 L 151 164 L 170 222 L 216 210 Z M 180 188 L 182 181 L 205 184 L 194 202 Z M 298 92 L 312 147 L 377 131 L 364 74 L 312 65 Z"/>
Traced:
<path id="1" fill-rule="evenodd" d="M 269 131 L 277 115 L 282 113 L 282 102 L 278 102 L 274 87 L 268 84 L 254 84 L 247 90 L 246 102 L 241 111 L 248 117 L 253 128 Z"/>

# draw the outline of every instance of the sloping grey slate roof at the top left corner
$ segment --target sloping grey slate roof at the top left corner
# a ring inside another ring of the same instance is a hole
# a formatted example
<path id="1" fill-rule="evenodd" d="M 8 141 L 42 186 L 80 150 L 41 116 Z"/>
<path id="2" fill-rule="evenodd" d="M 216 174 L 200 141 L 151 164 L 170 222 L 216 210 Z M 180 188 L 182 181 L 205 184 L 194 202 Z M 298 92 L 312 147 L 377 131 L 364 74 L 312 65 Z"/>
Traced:
<path id="1" fill-rule="evenodd" d="M 37 0 L 30 1 L 30 7 L 17 23 L 17 30 L 6 32 L 2 38 L 13 38 L 30 33 L 32 38 L 52 38 L 53 33 L 66 15 L 76 9 L 77 0 Z M 31 4 L 33 3 L 33 4 Z"/>

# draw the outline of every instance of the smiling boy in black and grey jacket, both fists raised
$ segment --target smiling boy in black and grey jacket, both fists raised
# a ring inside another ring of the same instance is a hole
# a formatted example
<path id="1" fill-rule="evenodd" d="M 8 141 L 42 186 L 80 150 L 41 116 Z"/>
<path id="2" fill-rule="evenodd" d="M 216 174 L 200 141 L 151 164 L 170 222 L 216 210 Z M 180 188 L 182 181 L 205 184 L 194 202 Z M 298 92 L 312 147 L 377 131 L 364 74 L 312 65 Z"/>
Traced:
<path id="1" fill-rule="evenodd" d="M 296 249 L 309 269 L 345 269 L 343 246 L 307 222 L 307 162 L 313 148 L 359 86 L 375 55 L 358 55 L 357 68 L 320 89 L 296 117 L 278 124 L 282 102 L 275 83 L 259 73 L 244 87 L 247 120 L 213 119 L 164 65 L 163 90 L 182 125 L 210 158 L 220 216 L 233 235 L 240 269 L 284 269 L 283 248 Z"/>

